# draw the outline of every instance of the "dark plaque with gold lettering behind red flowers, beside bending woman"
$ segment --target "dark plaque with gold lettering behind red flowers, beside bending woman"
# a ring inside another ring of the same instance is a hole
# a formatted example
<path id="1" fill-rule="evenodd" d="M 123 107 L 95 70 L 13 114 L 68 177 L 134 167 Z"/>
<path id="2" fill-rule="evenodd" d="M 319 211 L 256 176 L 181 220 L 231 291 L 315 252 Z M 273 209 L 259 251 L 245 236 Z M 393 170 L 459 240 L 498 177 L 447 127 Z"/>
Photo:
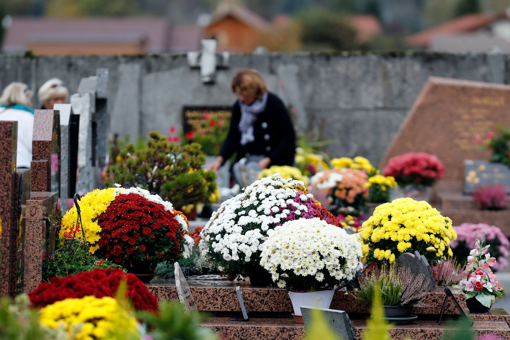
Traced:
<path id="1" fill-rule="evenodd" d="M 185 106 L 183 107 L 184 133 L 194 131 L 197 134 L 208 134 L 212 131 L 211 119 L 224 119 L 230 122 L 232 117 L 230 106 Z"/>

